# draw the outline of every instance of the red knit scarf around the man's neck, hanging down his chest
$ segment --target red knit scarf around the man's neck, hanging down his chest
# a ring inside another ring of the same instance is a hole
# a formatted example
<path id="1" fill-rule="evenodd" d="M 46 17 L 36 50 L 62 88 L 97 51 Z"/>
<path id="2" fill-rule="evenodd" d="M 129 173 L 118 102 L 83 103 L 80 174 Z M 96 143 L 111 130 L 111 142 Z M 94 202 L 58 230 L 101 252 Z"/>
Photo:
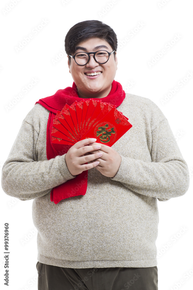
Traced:
<path id="1" fill-rule="evenodd" d="M 110 103 L 115 105 L 116 108 L 120 106 L 125 98 L 125 92 L 122 88 L 122 85 L 113 80 L 112 88 L 108 96 L 98 99 L 101 102 Z M 90 98 L 95 99 L 95 98 Z M 45 97 L 43 99 L 39 99 L 37 103 L 41 104 L 43 107 L 50 111 L 49 118 L 47 122 L 47 138 L 46 138 L 46 154 L 47 159 L 55 158 L 58 155 L 63 155 L 68 152 L 69 148 L 72 145 L 63 145 L 63 144 L 53 144 L 51 143 L 51 131 L 53 126 L 53 121 L 56 116 L 57 110 L 61 111 L 65 104 L 71 106 L 73 102 L 80 102 L 82 100 L 90 100 L 87 98 L 80 98 L 78 96 L 78 91 L 76 84 L 73 82 L 72 88 L 67 87 L 63 90 L 57 90 L 57 92 L 49 97 Z M 85 195 L 87 191 L 87 178 L 88 178 L 88 170 L 83 171 L 82 173 L 76 175 L 75 178 L 67 180 L 65 183 L 60 184 L 54 187 L 50 193 L 50 200 L 54 201 L 55 204 L 60 202 L 68 197 L 73 197 L 77 195 Z"/>

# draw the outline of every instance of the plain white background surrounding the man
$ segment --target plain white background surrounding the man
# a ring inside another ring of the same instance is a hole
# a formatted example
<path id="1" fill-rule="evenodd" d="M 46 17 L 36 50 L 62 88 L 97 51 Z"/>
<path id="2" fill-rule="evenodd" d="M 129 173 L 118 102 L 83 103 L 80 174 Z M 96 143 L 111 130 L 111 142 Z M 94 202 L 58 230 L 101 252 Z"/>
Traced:
<path id="1" fill-rule="evenodd" d="M 192 1 L 12 1 L 3 0 L 0 4 L 1 168 L 23 119 L 35 102 L 53 95 L 58 89 L 72 86 L 67 55 L 61 52 L 64 50 L 64 39 L 68 30 L 84 20 L 95 19 L 108 24 L 117 34 L 119 44 L 115 80 L 122 84 L 125 92 L 149 98 L 159 106 L 168 119 L 181 153 L 188 163 L 188 192 L 167 202 L 158 201 L 159 235 L 156 245 L 160 255 L 157 258 L 159 290 L 192 289 Z M 38 33 L 33 33 L 43 20 L 47 24 Z M 142 27 L 139 23 L 142 23 Z M 132 34 L 132 30 L 135 34 Z M 16 47 L 30 34 L 33 38 L 17 52 Z M 178 40 L 175 35 L 178 35 Z M 126 37 L 129 40 L 125 41 Z M 166 53 L 161 56 L 163 49 Z M 53 59 L 59 54 L 58 62 L 53 64 Z M 155 57 L 155 63 L 150 66 L 149 63 Z M 24 93 L 23 88 L 33 78 L 38 80 L 37 83 Z M 180 85 L 183 79 L 184 84 Z M 179 90 L 175 92 L 176 86 Z M 14 101 L 12 106 L 12 101 L 20 93 L 23 93 L 23 97 L 17 98 L 19 100 Z M 163 102 L 169 93 L 170 97 Z M 8 222 L 9 289 L 35 290 L 37 233 L 32 222 L 33 200 L 22 202 L 0 190 L 1 289 L 8 289 L 3 281 L 3 233 L 4 223 Z M 181 227 L 184 231 L 180 232 Z M 28 240 L 27 236 L 30 237 Z M 25 239 L 27 241 L 22 243 Z M 168 242 L 171 246 L 167 249 Z M 185 276 L 186 273 L 190 277 Z"/>

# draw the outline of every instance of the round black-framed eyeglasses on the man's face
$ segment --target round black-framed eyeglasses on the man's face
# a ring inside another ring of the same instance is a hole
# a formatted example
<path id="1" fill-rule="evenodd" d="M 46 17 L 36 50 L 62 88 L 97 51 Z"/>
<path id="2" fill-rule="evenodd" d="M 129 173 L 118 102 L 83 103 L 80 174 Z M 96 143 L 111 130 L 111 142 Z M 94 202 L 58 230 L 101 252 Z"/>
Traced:
<path id="1" fill-rule="evenodd" d="M 75 55 L 69 55 L 73 58 L 79 66 L 85 66 L 90 60 L 90 54 L 93 54 L 94 60 L 98 64 L 105 64 L 108 60 L 110 55 L 114 52 L 108 52 L 106 50 L 98 50 L 96 52 L 77 52 Z"/>

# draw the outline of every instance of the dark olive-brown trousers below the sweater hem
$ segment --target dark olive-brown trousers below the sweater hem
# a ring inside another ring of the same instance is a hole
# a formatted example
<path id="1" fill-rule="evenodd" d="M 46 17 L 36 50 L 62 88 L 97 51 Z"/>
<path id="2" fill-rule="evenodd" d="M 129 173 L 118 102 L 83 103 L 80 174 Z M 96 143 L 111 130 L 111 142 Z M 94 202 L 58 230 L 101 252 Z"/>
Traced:
<path id="1" fill-rule="evenodd" d="M 63 268 L 37 262 L 38 290 L 158 290 L 157 266 Z"/>

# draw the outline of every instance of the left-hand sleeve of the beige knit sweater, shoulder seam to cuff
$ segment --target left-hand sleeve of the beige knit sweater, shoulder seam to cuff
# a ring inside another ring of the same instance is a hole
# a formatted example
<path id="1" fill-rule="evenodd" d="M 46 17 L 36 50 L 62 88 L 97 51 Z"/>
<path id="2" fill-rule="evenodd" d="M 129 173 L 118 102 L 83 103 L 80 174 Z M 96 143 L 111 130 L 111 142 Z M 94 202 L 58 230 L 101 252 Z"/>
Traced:
<path id="1" fill-rule="evenodd" d="M 50 160 L 36 161 L 37 142 L 38 133 L 24 119 L 2 168 L 1 186 L 6 194 L 20 200 L 30 200 L 75 178 L 66 166 L 66 154 Z"/>

